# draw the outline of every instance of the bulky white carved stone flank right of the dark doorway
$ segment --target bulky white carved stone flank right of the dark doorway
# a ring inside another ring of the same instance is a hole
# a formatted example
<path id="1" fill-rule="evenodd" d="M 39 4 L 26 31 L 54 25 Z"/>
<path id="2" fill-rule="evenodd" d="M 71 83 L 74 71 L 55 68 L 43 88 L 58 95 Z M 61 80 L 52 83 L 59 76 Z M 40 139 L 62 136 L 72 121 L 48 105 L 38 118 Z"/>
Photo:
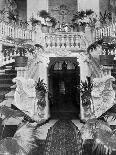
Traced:
<path id="1" fill-rule="evenodd" d="M 113 80 L 114 77 L 110 75 L 102 78 L 94 78 L 93 80 L 93 91 L 91 95 L 96 117 L 101 116 L 115 104 L 115 92 L 112 88 Z"/>

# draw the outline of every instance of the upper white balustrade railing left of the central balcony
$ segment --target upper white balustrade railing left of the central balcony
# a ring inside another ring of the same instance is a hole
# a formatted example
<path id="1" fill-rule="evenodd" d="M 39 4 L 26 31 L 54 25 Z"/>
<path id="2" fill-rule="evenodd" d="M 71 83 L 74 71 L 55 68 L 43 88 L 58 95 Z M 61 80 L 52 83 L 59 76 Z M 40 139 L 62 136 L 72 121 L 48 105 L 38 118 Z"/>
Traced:
<path id="1" fill-rule="evenodd" d="M 9 24 L 7 22 L 0 22 L 0 37 L 5 38 L 7 36 L 13 38 L 21 38 L 21 39 L 31 39 L 33 32 L 28 29 L 24 29 L 22 27 Z"/>

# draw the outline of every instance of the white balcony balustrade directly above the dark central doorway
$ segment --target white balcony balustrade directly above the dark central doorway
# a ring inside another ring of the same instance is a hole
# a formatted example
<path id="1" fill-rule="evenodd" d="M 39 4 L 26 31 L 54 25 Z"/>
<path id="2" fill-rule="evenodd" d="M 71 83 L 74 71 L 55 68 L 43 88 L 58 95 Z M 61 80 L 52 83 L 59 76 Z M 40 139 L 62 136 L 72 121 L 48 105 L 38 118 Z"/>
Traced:
<path id="1" fill-rule="evenodd" d="M 88 46 L 84 33 L 52 33 L 45 34 L 45 50 L 66 49 L 66 50 L 85 50 Z"/>

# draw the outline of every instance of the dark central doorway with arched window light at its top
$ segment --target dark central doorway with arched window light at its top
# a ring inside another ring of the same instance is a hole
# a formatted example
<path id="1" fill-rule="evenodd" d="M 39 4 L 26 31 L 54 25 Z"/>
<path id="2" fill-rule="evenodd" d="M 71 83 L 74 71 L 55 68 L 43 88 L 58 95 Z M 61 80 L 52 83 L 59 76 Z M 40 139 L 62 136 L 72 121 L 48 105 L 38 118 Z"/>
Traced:
<path id="1" fill-rule="evenodd" d="M 50 115 L 77 119 L 80 113 L 80 67 L 77 58 L 51 58 L 49 66 Z"/>

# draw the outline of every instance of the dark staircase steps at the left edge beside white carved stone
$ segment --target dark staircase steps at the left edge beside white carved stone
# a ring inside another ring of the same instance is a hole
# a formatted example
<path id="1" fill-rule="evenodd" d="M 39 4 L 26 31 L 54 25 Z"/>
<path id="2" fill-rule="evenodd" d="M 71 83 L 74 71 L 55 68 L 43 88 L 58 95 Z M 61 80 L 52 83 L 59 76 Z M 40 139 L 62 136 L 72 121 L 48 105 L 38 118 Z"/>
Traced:
<path id="1" fill-rule="evenodd" d="M 0 71 L 0 104 L 13 100 L 15 85 L 12 79 L 16 77 L 14 63 L 2 66 Z M 9 105 L 10 106 L 10 105 Z"/>

